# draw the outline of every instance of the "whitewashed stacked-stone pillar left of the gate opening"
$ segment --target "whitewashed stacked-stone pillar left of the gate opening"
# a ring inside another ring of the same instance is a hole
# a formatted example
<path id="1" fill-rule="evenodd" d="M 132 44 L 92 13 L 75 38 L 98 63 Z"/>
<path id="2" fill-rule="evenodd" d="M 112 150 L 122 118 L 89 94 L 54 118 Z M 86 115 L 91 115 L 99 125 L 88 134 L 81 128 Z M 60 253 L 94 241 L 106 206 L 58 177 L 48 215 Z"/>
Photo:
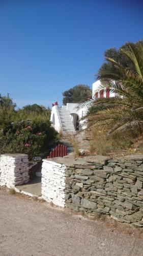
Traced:
<path id="1" fill-rule="evenodd" d="M 0 157 L 0 185 L 14 187 L 29 180 L 28 156 L 24 154 L 4 154 Z"/>

